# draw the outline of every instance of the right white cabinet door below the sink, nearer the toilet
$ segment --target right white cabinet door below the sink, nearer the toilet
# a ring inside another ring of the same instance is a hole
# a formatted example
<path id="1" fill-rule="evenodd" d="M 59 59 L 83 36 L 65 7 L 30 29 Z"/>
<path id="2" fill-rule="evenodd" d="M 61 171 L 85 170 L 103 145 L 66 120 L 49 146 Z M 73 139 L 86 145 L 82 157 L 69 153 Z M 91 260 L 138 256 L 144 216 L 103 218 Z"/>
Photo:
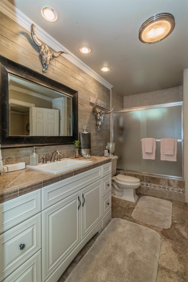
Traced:
<path id="1" fill-rule="evenodd" d="M 102 218 L 101 214 L 101 180 L 81 190 L 81 239 L 89 233 Z"/>

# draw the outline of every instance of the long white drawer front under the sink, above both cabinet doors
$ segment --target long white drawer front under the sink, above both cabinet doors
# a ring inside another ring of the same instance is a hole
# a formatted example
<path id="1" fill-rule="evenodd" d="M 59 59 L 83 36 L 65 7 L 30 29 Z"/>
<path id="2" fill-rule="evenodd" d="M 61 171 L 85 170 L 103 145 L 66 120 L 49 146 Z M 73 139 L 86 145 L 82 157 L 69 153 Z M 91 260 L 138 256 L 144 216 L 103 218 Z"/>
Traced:
<path id="1" fill-rule="evenodd" d="M 72 195 L 80 189 L 101 178 L 101 167 L 88 170 L 73 177 L 58 182 L 58 184 L 43 187 L 42 210 Z"/>

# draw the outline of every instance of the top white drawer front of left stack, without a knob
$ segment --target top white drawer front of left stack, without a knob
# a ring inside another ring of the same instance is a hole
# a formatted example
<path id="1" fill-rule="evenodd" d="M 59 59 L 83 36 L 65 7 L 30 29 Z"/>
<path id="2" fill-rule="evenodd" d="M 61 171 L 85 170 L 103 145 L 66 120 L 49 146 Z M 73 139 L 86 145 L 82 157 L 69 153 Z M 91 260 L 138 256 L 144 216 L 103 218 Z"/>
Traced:
<path id="1" fill-rule="evenodd" d="M 0 234 L 41 211 L 41 189 L 0 204 Z"/>

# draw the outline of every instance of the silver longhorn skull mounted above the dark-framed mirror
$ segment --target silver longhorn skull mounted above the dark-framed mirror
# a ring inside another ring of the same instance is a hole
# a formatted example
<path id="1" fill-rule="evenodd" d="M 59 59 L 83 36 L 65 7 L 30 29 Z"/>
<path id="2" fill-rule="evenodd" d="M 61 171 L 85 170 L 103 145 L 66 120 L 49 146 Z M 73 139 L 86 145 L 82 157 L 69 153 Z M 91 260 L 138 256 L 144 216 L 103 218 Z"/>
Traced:
<path id="1" fill-rule="evenodd" d="M 31 37 L 34 41 L 34 43 L 36 44 L 36 46 L 38 46 L 40 48 L 40 55 L 41 55 L 41 62 L 43 65 L 43 72 L 46 73 L 46 70 L 48 68 L 49 62 L 51 59 L 53 58 L 58 58 L 60 56 L 60 54 L 62 53 L 66 53 L 64 51 L 59 51 L 59 52 L 53 52 L 50 50 L 50 48 L 47 45 L 42 45 L 41 41 L 36 37 L 35 34 L 35 25 L 31 24 Z"/>

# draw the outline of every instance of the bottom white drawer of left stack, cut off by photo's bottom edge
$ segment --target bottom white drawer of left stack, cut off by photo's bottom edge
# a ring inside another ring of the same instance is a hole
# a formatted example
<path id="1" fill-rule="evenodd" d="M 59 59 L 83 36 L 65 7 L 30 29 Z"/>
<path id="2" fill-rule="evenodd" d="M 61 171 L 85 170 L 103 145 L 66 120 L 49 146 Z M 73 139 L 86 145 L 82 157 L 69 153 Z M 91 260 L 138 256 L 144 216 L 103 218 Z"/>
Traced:
<path id="1" fill-rule="evenodd" d="M 3 282 L 41 282 L 41 250 L 28 259 Z"/>

